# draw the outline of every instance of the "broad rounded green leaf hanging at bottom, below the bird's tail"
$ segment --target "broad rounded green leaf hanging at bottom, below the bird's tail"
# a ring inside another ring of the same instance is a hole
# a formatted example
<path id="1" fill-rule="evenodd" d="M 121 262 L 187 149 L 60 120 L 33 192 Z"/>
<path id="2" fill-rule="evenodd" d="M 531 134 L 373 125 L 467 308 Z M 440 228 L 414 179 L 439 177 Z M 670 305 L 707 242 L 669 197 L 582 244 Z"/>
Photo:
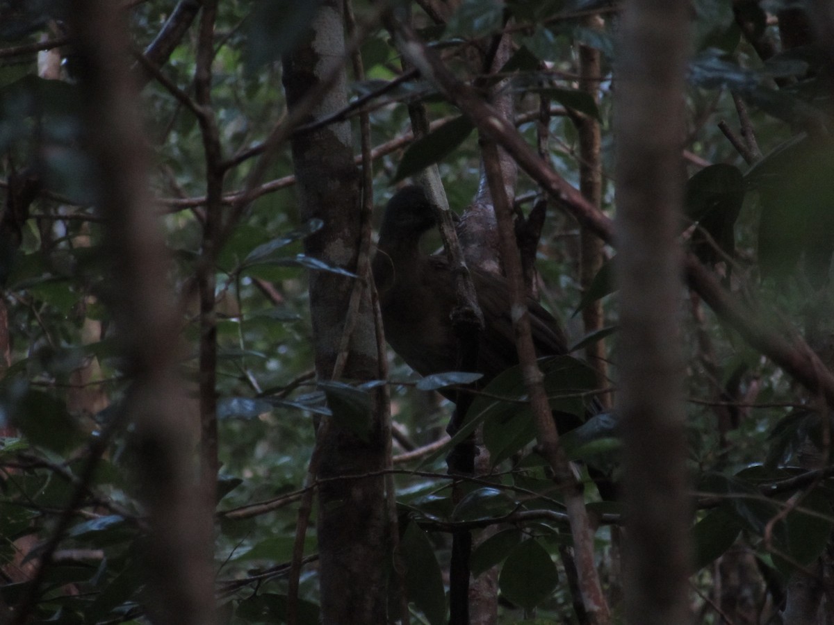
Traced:
<path id="1" fill-rule="evenodd" d="M 559 574 L 544 547 L 534 539 L 515 547 L 501 567 L 498 587 L 515 605 L 530 611 L 555 590 Z"/>

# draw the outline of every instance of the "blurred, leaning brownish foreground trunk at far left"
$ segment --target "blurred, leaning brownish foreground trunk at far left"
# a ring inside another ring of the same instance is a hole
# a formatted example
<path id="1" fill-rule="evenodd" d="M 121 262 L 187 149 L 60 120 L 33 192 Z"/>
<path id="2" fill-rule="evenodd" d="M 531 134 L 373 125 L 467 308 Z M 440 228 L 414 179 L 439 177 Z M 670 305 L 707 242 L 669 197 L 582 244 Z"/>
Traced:
<path id="1" fill-rule="evenodd" d="M 99 209 L 108 226 L 108 303 L 133 380 L 124 412 L 135 428 L 139 488 L 151 528 L 143 547 L 148 612 L 155 623 L 208 625 L 216 622 L 213 516 L 196 488 L 197 415 L 177 375 L 181 319 L 167 288 L 168 254 L 148 192 L 145 134 L 121 12 L 107 0 L 76 0 L 69 15 L 84 70 L 80 92 Z"/>

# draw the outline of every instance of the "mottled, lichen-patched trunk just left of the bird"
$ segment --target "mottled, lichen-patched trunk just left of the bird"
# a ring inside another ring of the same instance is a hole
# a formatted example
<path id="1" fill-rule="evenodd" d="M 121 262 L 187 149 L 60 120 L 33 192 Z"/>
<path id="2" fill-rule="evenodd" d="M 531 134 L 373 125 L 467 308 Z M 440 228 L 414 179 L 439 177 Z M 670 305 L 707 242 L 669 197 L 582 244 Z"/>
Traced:
<path id="1" fill-rule="evenodd" d="M 319 7 L 309 38 L 284 57 L 284 88 L 289 107 L 299 107 L 304 94 L 332 71 L 331 63 L 342 62 L 343 57 L 342 4 L 328 0 Z M 347 104 L 344 70 L 340 73 L 328 95 L 309 107 L 305 121 L 324 117 Z M 362 222 L 359 173 L 354 165 L 349 124 L 334 123 L 312 133 L 296 134 L 292 152 L 301 218 L 324 222 L 324 228 L 305 240 L 304 253 L 331 266 L 357 271 Z M 319 380 L 334 377 L 345 332 L 350 333 L 350 340 L 341 376 L 351 380 L 379 378 L 371 300 L 362 284 L 336 273 L 315 271 L 309 275 Z M 354 288 L 363 291 L 358 308 L 350 311 Z M 352 316 L 354 327 L 346 330 Z M 365 440 L 341 427 L 338 414 L 322 423 L 317 443 L 319 479 L 384 468 L 383 420 L 375 409 L 370 418 Z M 387 622 L 385 530 L 382 477 L 320 485 L 319 570 L 324 623 Z"/>

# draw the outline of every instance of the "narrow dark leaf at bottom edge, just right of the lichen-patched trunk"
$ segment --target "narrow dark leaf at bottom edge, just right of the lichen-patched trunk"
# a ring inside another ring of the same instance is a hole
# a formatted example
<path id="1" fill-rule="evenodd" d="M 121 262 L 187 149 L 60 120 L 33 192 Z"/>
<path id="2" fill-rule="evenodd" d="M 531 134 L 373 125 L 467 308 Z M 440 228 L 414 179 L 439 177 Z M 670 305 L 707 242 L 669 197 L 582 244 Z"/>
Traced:
<path id="1" fill-rule="evenodd" d="M 405 589 L 409 600 L 425 614 L 430 625 L 445 625 L 443 573 L 434 545 L 417 523 L 410 522 L 399 546 L 405 560 Z"/>

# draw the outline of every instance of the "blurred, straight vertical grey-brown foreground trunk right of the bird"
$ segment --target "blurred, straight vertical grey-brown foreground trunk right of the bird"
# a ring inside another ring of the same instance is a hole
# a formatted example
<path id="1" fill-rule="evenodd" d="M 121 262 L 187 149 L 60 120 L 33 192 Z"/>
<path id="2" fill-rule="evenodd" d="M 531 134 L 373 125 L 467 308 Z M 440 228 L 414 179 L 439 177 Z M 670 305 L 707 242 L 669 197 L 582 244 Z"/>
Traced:
<path id="1" fill-rule="evenodd" d="M 690 620 L 677 237 L 688 12 L 686 2 L 632 0 L 620 27 L 617 409 L 625 443 L 625 616 L 635 625 Z"/>

